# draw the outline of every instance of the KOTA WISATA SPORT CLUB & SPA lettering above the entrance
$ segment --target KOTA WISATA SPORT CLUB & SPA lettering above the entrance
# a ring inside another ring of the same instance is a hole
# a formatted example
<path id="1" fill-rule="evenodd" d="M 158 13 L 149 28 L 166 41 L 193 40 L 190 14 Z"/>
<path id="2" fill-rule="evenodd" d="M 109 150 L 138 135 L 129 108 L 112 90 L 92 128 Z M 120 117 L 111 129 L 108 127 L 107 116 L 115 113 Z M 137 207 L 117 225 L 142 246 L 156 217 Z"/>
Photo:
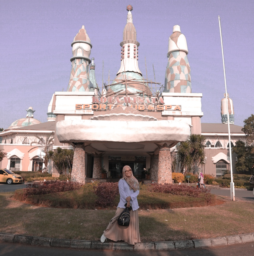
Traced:
<path id="1" fill-rule="evenodd" d="M 178 110 L 181 111 L 181 105 L 165 105 L 162 97 L 92 97 L 93 104 L 76 104 L 76 110 L 111 110 L 120 106 L 128 106 L 137 110 Z"/>

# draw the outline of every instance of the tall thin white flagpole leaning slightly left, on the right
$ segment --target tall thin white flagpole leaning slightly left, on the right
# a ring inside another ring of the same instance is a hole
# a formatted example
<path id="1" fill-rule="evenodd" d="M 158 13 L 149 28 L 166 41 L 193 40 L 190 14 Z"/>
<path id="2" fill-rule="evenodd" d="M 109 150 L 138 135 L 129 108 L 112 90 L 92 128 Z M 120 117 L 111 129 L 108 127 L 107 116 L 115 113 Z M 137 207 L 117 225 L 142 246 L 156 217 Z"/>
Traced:
<path id="1" fill-rule="evenodd" d="M 221 35 L 221 18 L 219 18 L 219 33 Z M 235 201 L 235 189 L 233 182 L 233 168 L 232 168 L 232 153 L 231 153 L 231 139 L 230 139 L 230 126 L 229 126 L 229 113 L 228 113 L 228 93 L 227 93 L 227 83 L 226 83 L 226 73 L 225 73 L 225 64 L 224 64 L 224 54 L 223 54 L 223 45 L 222 45 L 222 35 L 221 35 L 221 51 L 222 51 L 222 61 L 223 61 L 223 70 L 224 70 L 224 82 L 225 82 L 225 91 L 226 91 L 226 105 L 227 105 L 227 118 L 228 118 L 228 141 L 229 141 L 229 157 L 230 157 L 230 194 L 231 200 Z"/>

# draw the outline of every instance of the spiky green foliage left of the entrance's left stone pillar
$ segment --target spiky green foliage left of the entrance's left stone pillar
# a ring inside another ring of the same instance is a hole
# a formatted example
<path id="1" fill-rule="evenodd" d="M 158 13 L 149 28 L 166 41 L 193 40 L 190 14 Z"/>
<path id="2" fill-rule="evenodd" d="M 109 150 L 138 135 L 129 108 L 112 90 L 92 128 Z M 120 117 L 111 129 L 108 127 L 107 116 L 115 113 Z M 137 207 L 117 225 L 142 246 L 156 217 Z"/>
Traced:
<path id="1" fill-rule="evenodd" d="M 62 149 L 57 147 L 54 151 L 49 150 L 45 156 L 45 159 L 48 161 L 52 159 L 57 171 L 60 174 L 66 174 L 67 170 L 71 173 L 72 164 L 73 164 L 73 155 L 74 152 L 71 149 Z"/>

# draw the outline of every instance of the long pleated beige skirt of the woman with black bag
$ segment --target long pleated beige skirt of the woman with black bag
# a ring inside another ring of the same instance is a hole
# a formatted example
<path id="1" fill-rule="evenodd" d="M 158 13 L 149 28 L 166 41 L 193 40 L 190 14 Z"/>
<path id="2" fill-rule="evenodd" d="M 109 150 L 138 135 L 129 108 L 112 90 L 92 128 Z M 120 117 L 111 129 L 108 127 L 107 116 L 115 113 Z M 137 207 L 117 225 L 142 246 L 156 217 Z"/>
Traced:
<path id="1" fill-rule="evenodd" d="M 124 208 L 118 207 L 115 216 L 112 219 L 118 217 L 123 210 Z M 130 210 L 130 225 L 128 227 L 119 226 L 117 223 L 117 218 L 112 220 L 112 222 L 114 223 L 109 222 L 108 227 L 103 232 L 103 235 L 106 238 L 112 241 L 123 240 L 129 244 L 135 244 L 140 242 L 139 216 L 137 210 Z"/>

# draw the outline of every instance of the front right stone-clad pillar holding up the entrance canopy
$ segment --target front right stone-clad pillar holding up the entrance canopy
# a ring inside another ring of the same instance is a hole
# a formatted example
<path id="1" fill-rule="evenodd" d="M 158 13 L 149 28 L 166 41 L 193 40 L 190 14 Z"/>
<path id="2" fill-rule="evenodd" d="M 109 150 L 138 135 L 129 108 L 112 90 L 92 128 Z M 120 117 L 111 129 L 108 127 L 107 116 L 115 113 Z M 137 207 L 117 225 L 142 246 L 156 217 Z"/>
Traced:
<path id="1" fill-rule="evenodd" d="M 158 160 L 158 184 L 172 184 L 170 148 L 164 147 L 159 150 Z"/>

